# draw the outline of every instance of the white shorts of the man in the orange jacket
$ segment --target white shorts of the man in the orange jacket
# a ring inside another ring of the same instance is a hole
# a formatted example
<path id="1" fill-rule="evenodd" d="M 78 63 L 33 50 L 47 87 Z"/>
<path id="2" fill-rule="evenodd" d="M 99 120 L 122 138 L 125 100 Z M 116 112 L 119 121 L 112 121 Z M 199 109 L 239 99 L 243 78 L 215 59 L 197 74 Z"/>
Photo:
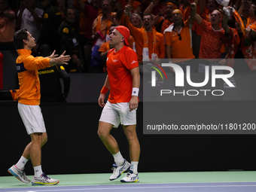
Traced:
<path id="1" fill-rule="evenodd" d="M 24 105 L 18 102 L 18 110 L 24 126 L 26 127 L 26 132 L 29 135 L 31 133 L 46 132 L 44 117 L 41 114 L 39 105 Z"/>

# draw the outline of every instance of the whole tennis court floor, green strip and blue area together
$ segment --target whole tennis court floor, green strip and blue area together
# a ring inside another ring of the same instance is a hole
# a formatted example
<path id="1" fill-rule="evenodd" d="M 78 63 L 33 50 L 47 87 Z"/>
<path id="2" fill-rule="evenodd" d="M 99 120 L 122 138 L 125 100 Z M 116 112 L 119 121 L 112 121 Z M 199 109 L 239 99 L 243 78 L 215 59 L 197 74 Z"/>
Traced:
<path id="1" fill-rule="evenodd" d="M 0 192 L 80 192 L 80 191 L 147 191 L 147 192 L 255 192 L 255 171 L 227 172 L 140 172 L 138 183 L 109 181 L 111 173 L 50 175 L 59 184 L 34 186 L 14 176 L 0 177 Z M 28 175 L 32 179 L 33 175 Z"/>

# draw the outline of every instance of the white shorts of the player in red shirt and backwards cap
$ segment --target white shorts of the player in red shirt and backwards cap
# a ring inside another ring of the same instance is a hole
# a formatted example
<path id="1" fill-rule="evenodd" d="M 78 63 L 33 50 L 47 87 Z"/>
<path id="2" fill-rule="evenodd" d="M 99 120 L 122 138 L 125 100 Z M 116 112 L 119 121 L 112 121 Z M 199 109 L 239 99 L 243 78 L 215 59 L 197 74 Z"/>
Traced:
<path id="1" fill-rule="evenodd" d="M 124 126 L 136 125 L 136 110 L 130 111 L 129 104 L 129 102 L 107 102 L 99 121 L 111 123 L 114 128 L 117 128 L 120 123 Z"/>

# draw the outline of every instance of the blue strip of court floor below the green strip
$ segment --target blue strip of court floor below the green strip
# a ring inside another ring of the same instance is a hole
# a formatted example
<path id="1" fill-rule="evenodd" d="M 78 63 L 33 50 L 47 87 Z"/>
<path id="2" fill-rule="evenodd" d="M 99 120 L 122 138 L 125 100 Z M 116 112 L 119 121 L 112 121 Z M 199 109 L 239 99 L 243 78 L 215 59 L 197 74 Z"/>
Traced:
<path id="1" fill-rule="evenodd" d="M 113 185 L 90 185 L 90 186 L 43 186 L 5 188 L 0 191 L 6 192 L 49 192 L 49 191 L 177 191 L 177 192 L 255 192 L 256 182 L 235 183 L 184 183 L 184 184 L 113 184 Z"/>

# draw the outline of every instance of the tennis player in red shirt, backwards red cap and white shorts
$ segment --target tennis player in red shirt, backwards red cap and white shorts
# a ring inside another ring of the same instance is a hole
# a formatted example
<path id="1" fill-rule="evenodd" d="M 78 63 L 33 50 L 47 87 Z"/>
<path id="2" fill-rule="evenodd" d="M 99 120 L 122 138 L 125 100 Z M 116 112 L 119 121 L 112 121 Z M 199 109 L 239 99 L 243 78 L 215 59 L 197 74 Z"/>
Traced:
<path id="1" fill-rule="evenodd" d="M 99 119 L 98 135 L 105 147 L 114 157 L 113 174 L 109 178 L 115 180 L 128 172 L 121 182 L 138 182 L 138 163 L 140 146 L 136 134 L 136 108 L 139 95 L 139 62 L 137 54 L 129 47 L 130 31 L 125 26 L 117 26 L 110 35 L 108 50 L 108 76 L 99 95 L 99 106 L 104 107 Z M 105 104 L 105 93 L 110 89 L 108 102 Z M 123 131 L 130 145 L 130 160 L 123 159 L 117 141 L 111 136 L 111 129 L 122 124 Z M 130 168 L 130 169 L 129 169 Z"/>

